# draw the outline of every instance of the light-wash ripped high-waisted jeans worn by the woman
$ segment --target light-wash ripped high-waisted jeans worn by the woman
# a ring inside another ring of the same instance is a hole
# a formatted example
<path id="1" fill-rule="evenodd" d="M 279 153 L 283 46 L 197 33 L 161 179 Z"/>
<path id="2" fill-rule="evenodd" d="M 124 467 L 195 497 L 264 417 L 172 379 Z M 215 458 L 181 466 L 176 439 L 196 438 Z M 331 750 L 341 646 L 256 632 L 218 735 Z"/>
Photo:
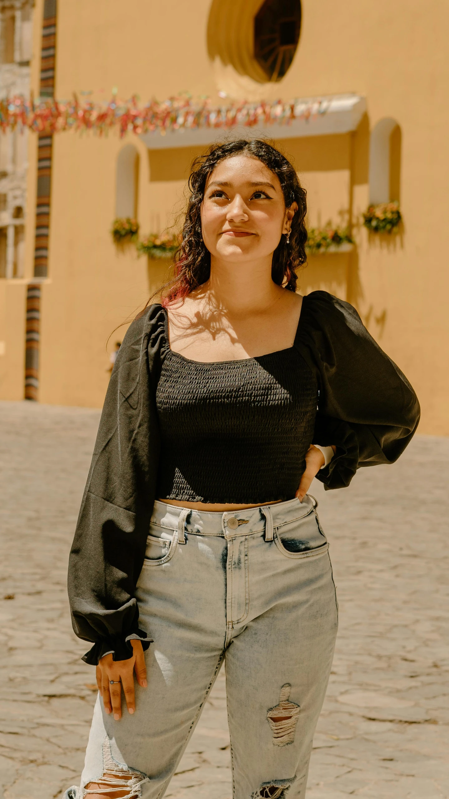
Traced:
<path id="1" fill-rule="evenodd" d="M 232 796 L 304 799 L 337 630 L 315 505 L 306 496 L 209 513 L 155 503 L 136 592 L 154 639 L 148 688 L 136 685 L 136 712 L 119 722 L 97 698 L 81 788 L 65 799 L 87 799 L 91 781 L 107 793 L 121 786 L 124 799 L 161 797 L 223 660 Z"/>

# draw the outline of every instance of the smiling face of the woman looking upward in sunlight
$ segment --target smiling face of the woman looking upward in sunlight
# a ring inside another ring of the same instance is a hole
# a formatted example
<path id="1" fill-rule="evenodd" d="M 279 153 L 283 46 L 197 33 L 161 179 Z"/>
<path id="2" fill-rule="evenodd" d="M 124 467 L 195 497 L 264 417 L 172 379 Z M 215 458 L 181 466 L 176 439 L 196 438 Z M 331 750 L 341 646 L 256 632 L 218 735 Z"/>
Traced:
<path id="1" fill-rule="evenodd" d="M 272 255 L 297 210 L 285 209 L 278 177 L 256 158 L 224 159 L 205 188 L 203 240 L 211 256 L 245 261 Z"/>

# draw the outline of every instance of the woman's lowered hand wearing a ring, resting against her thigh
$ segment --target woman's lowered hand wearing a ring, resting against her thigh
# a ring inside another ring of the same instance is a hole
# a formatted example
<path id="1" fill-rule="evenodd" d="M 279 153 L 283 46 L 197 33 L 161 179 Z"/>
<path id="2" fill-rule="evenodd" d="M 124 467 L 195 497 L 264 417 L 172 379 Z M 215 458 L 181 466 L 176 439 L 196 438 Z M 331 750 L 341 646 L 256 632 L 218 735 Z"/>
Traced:
<path id="1" fill-rule="evenodd" d="M 134 678 L 142 688 L 146 688 L 146 666 L 145 655 L 141 641 L 131 640 L 133 646 L 133 657 L 129 660 L 113 661 L 112 654 L 105 654 L 97 666 L 97 686 L 103 698 L 103 705 L 106 713 L 113 713 L 116 721 L 121 719 L 121 688 L 125 694 L 126 707 L 128 713 L 136 710 L 136 700 L 134 698 Z M 111 682 L 113 684 L 111 685 Z"/>

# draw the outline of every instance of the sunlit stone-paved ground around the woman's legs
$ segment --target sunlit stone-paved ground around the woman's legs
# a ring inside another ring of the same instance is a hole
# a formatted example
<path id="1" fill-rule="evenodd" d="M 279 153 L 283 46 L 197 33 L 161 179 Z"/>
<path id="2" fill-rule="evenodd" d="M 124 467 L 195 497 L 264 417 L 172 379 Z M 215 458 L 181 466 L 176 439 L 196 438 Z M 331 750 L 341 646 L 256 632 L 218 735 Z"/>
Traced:
<path id="1" fill-rule="evenodd" d="M 96 690 L 66 562 L 98 419 L 0 403 L 0 799 L 79 784 Z M 340 633 L 308 799 L 449 797 L 448 477 L 449 439 L 417 436 L 344 491 L 313 487 Z M 223 674 L 165 795 L 231 799 Z"/>

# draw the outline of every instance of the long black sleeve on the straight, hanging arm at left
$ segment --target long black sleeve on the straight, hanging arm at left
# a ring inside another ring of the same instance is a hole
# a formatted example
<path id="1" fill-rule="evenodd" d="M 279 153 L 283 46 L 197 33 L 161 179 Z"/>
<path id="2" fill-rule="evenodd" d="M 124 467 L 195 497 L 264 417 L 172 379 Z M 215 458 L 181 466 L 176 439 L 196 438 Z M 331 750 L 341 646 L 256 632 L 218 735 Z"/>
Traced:
<path id="1" fill-rule="evenodd" d="M 157 380 L 161 306 L 126 332 L 101 413 L 92 464 L 70 551 L 68 589 L 78 638 L 93 642 L 83 660 L 97 664 L 133 654 L 139 629 L 135 599 L 156 491 L 160 433 L 152 384 Z M 155 374 L 156 373 L 156 374 Z"/>

